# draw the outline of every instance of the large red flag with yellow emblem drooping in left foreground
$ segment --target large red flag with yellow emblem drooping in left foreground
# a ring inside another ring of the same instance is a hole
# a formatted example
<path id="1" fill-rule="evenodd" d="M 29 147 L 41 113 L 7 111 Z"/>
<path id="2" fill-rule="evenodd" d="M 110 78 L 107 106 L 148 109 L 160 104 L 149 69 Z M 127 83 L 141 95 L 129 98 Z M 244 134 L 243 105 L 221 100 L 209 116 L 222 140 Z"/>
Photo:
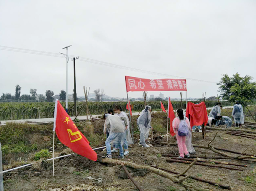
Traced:
<path id="1" fill-rule="evenodd" d="M 90 160 L 97 160 L 97 153 L 90 147 L 89 141 L 77 129 L 75 123 L 70 119 L 67 112 L 56 100 L 54 112 L 54 129 L 61 143 L 69 147 L 75 153 L 82 155 Z"/>

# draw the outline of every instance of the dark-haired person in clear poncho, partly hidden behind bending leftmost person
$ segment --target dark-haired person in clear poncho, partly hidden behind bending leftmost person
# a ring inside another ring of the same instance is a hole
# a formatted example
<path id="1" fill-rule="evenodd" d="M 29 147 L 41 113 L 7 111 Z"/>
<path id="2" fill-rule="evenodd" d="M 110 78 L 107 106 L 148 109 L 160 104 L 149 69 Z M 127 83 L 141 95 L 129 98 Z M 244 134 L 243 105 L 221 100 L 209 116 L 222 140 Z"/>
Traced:
<path id="1" fill-rule="evenodd" d="M 117 114 L 117 116 L 123 116 L 123 117 L 126 117 L 127 119 L 127 122 L 128 122 L 128 128 L 126 130 L 126 137 L 124 139 L 124 143 L 123 143 L 123 148 L 124 148 L 124 156 L 127 155 L 129 153 L 128 151 L 128 145 L 130 144 L 133 144 L 133 140 L 132 140 L 132 137 L 131 137 L 131 133 L 130 133 L 130 121 L 129 121 L 129 118 L 128 116 L 126 115 L 126 113 L 124 113 L 122 111 L 122 108 L 120 106 L 116 106 L 114 108 L 114 113 Z M 123 124 L 124 124 L 124 121 L 123 121 Z M 113 150 L 111 150 L 112 153 L 117 153 L 118 152 L 118 148 L 115 147 L 113 148 Z"/>

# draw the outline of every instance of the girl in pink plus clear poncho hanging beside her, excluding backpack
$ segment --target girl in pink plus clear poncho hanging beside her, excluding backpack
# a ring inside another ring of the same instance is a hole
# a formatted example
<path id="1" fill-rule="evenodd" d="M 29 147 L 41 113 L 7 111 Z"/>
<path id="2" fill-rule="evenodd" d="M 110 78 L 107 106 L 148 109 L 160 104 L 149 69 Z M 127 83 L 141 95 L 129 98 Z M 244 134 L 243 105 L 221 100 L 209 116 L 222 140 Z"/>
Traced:
<path id="1" fill-rule="evenodd" d="M 177 139 L 178 148 L 179 148 L 179 158 L 184 158 L 184 153 L 185 153 L 186 157 L 189 157 L 189 153 L 196 153 L 196 151 L 192 145 L 192 142 L 191 142 L 192 141 L 192 131 L 191 131 L 189 119 L 184 116 L 182 109 L 178 109 L 177 114 L 178 114 L 178 116 L 175 119 L 173 119 L 173 121 L 172 121 L 172 127 L 176 134 L 176 139 Z M 186 121 L 188 130 L 189 130 L 188 136 L 179 136 L 178 135 L 179 123 L 181 122 L 181 120 Z"/>

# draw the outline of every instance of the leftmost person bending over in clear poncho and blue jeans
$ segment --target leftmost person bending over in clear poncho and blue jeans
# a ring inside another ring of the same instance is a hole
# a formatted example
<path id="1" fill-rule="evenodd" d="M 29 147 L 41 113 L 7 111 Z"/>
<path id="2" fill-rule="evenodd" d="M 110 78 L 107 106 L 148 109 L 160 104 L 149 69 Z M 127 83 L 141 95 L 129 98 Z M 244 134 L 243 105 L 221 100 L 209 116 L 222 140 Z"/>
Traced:
<path id="1" fill-rule="evenodd" d="M 124 124 L 122 122 L 124 121 Z M 111 145 L 116 145 L 119 148 L 119 158 L 123 159 L 123 143 L 126 136 L 127 119 L 123 116 L 108 115 L 106 118 L 106 128 L 109 131 L 109 137 L 105 141 L 107 149 L 107 158 L 112 158 Z"/>

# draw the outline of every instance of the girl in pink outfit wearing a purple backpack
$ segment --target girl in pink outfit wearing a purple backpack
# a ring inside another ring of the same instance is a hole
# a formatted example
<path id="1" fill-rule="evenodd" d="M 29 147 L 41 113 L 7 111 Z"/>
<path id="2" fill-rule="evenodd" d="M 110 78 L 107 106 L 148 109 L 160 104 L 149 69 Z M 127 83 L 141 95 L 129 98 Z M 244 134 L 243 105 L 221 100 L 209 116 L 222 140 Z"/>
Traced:
<path id="1" fill-rule="evenodd" d="M 179 158 L 189 157 L 189 152 L 186 147 L 186 136 L 189 136 L 190 123 L 189 119 L 184 117 L 183 110 L 177 110 L 178 117 L 173 119 L 172 127 L 176 133 L 176 139 L 179 147 Z"/>

